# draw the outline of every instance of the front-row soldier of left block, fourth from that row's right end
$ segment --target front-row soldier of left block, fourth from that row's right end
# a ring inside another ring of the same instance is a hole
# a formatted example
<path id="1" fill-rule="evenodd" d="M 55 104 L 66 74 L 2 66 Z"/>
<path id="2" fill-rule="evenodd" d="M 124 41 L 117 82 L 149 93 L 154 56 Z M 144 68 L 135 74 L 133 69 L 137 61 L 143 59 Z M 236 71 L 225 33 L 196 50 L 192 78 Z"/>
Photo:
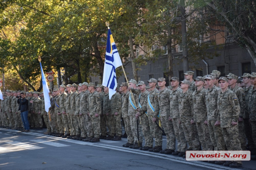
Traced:
<path id="1" fill-rule="evenodd" d="M 81 133 L 80 129 L 76 129 L 77 126 L 74 123 L 75 112 L 76 112 L 76 97 L 78 95 L 77 85 L 75 83 L 72 84 L 71 91 L 72 91 L 72 94 L 70 96 L 70 121 L 71 121 L 70 134 L 71 136 L 67 137 L 70 139 L 72 139 L 72 137 L 75 137 Z"/>

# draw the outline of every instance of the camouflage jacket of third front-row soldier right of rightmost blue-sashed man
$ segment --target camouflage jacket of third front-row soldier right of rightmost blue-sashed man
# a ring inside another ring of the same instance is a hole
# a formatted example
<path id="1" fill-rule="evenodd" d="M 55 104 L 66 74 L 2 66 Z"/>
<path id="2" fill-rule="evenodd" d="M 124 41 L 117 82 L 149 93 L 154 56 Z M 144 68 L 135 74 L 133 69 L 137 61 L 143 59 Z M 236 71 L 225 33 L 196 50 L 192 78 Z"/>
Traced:
<path id="1" fill-rule="evenodd" d="M 187 90 L 179 96 L 179 117 L 181 122 L 193 118 L 193 100 L 190 90 Z"/>

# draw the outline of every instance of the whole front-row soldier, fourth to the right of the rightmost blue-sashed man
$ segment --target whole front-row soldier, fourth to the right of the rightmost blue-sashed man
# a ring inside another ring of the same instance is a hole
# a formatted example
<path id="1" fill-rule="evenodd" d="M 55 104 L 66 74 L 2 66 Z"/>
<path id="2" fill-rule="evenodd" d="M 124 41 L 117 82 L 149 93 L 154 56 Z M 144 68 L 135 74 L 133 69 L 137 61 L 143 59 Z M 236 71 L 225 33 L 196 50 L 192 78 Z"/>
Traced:
<path id="1" fill-rule="evenodd" d="M 203 88 L 205 83 L 204 77 L 196 77 L 194 81 L 197 89 L 192 93 L 194 113 L 191 123 L 196 123 L 196 129 L 199 141 L 202 145 L 202 150 L 213 150 L 213 144 L 209 138 L 209 128 L 206 124 L 207 109 L 205 94 L 207 93 L 207 90 Z"/>

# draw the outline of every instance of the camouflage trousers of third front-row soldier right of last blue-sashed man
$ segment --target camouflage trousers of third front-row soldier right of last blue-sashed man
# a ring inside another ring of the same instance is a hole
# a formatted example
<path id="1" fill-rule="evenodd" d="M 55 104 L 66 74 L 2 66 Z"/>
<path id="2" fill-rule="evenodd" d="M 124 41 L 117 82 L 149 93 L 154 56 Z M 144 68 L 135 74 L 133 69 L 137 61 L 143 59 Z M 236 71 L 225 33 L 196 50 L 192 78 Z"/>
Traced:
<path id="1" fill-rule="evenodd" d="M 196 130 L 196 123 L 191 124 L 190 120 L 186 120 L 184 122 L 182 121 L 181 125 L 185 138 L 188 141 L 189 149 L 192 148 L 193 150 L 199 150 L 200 144 Z"/>

